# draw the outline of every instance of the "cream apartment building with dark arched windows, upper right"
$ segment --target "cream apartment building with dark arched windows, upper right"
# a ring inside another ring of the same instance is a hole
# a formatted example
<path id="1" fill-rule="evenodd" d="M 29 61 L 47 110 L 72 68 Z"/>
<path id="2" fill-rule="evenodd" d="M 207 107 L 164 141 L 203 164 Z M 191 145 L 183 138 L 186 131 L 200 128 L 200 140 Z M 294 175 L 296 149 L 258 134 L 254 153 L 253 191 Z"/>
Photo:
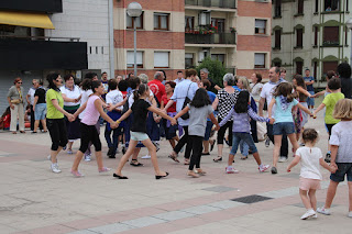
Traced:
<path id="1" fill-rule="evenodd" d="M 351 57 L 351 0 L 296 0 L 273 2 L 272 64 L 288 77 L 306 68 L 323 87 L 324 74 Z"/>

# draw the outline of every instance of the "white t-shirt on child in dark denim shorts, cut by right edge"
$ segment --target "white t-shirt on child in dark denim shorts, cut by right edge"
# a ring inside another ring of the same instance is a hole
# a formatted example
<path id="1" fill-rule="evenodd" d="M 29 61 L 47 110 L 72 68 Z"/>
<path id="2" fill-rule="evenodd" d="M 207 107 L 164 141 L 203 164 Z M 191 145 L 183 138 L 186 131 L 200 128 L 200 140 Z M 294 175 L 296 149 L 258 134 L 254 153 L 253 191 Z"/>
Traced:
<path id="1" fill-rule="evenodd" d="M 336 163 L 352 163 L 352 121 L 340 121 L 331 130 L 330 145 L 338 145 Z"/>

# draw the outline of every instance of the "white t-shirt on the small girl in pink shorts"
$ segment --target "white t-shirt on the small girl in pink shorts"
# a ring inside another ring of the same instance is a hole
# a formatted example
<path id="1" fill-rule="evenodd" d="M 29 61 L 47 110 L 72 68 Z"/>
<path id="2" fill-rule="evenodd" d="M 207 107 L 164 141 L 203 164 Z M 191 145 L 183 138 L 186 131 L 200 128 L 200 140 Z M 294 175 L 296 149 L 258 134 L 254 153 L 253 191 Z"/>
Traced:
<path id="1" fill-rule="evenodd" d="M 297 156 L 300 157 L 300 177 L 307 179 L 322 179 L 319 170 L 319 159 L 322 158 L 320 148 L 304 146 L 296 151 L 296 157 Z"/>

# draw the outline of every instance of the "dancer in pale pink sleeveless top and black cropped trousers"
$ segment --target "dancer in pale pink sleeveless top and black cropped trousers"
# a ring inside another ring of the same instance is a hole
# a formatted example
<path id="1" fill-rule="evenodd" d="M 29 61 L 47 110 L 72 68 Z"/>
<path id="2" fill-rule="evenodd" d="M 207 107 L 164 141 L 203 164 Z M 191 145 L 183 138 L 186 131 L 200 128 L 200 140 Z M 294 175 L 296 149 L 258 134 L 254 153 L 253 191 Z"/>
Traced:
<path id="1" fill-rule="evenodd" d="M 96 148 L 96 158 L 98 164 L 99 172 L 107 172 L 110 168 L 103 167 L 102 157 L 101 157 L 101 142 L 99 138 L 99 133 L 96 129 L 96 124 L 101 115 L 107 122 L 110 123 L 111 129 L 118 127 L 118 124 L 111 120 L 102 109 L 102 100 L 100 99 L 101 94 L 105 93 L 105 88 L 100 80 L 91 81 L 91 90 L 94 91 L 92 96 L 89 97 L 88 101 L 82 104 L 74 114 L 75 118 L 78 116 L 80 112 L 85 109 L 85 116 L 80 122 L 80 147 L 76 154 L 75 161 L 70 172 L 74 177 L 82 177 L 84 175 L 78 171 L 79 163 L 88 148 L 89 142 L 95 145 Z"/>

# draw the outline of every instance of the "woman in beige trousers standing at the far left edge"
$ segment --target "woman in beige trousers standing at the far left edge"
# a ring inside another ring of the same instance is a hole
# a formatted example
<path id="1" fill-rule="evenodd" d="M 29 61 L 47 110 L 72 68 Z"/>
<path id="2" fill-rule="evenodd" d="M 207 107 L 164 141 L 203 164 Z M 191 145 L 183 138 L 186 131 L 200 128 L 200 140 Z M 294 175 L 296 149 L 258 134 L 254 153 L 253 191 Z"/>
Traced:
<path id="1" fill-rule="evenodd" d="M 16 134 L 19 119 L 20 133 L 25 133 L 22 79 L 18 77 L 14 79 L 13 83 L 14 86 L 11 86 L 8 92 L 8 102 L 11 109 L 10 131 L 12 134 Z"/>

